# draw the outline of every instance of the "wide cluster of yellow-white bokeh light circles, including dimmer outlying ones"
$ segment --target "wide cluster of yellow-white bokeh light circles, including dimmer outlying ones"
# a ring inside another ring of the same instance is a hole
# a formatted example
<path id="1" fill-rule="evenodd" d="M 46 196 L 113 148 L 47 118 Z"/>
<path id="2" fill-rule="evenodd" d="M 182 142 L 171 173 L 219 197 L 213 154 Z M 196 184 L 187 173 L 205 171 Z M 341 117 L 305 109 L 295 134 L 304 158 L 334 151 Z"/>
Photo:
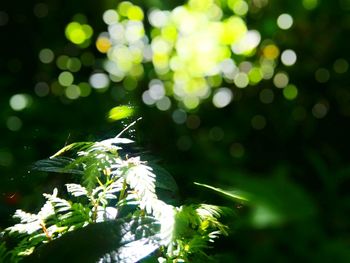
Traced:
<path id="1" fill-rule="evenodd" d="M 160 111 L 193 111 L 208 101 L 215 108 L 227 107 L 234 101 L 236 89 L 267 81 L 280 89 L 292 85 L 293 91 L 289 88 L 281 93 L 287 100 L 295 99 L 297 85 L 280 68 L 297 63 L 296 51 L 279 47 L 274 38 L 266 38 L 248 23 L 247 17 L 256 16 L 267 4 L 258 0 L 190 0 L 172 10 L 143 10 L 124 1 L 103 12 L 101 20 L 107 28 L 97 35 L 87 18 L 78 13 L 67 24 L 65 34 L 81 50 L 80 55 L 40 50 L 40 61 L 55 63 L 61 72 L 56 81 L 48 83 L 49 90 L 40 84 L 36 93 L 72 101 L 88 97 L 92 90 L 106 92 L 121 84 L 124 91 L 112 92 L 140 94 L 137 90 L 141 90 L 139 99 Z M 295 21 L 291 14 L 282 13 L 275 24 L 287 32 Z M 103 61 L 84 51 L 93 41 L 96 50 L 106 56 Z M 347 68 L 344 61 L 335 66 L 339 72 Z M 149 67 L 151 70 L 146 70 Z M 81 82 L 75 75 L 86 69 L 91 72 L 89 81 Z M 315 74 L 320 82 L 326 81 L 324 74 Z M 286 95 L 291 92 L 293 95 Z M 227 98 L 219 99 L 225 94 Z"/>

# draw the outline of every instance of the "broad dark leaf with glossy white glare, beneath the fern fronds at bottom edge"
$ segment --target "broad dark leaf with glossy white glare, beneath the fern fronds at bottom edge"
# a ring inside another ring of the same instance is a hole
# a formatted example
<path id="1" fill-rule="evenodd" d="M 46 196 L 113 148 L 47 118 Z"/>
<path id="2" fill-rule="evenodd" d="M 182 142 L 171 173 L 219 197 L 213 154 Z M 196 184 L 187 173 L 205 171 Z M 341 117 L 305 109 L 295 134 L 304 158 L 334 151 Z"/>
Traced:
<path id="1" fill-rule="evenodd" d="M 38 247 L 23 262 L 134 263 L 159 247 L 151 217 L 90 224 Z"/>

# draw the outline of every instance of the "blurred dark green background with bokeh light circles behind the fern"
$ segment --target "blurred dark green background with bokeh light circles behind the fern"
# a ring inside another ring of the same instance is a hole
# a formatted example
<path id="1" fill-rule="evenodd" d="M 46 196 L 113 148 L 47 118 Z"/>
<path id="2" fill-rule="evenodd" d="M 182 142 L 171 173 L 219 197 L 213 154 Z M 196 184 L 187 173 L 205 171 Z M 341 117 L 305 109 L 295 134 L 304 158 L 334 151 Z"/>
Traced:
<path id="1" fill-rule="evenodd" d="M 128 137 L 182 197 L 235 208 L 220 262 L 350 262 L 349 11 L 348 0 L 1 2 L 1 226 L 60 182 L 34 161 L 141 116 Z"/>

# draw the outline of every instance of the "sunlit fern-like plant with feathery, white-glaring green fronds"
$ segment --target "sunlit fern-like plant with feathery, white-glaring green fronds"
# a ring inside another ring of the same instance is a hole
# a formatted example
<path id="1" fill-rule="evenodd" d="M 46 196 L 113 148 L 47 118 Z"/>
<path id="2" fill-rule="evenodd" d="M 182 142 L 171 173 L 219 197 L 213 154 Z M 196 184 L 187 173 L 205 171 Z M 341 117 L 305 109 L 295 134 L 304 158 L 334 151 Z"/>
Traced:
<path id="1" fill-rule="evenodd" d="M 205 258 L 209 242 L 226 234 L 226 227 L 218 220 L 222 210 L 205 204 L 176 207 L 160 200 L 157 186 L 169 191 L 174 188 L 174 180 L 170 178 L 167 185 L 168 174 L 160 178 L 162 173 L 156 174 L 140 157 L 120 154 L 123 145 L 129 143 L 132 141 L 118 136 L 74 143 L 50 159 L 37 162 L 37 170 L 75 174 L 66 184 L 68 195 L 61 193 L 59 197 L 54 189 L 51 194 L 43 194 L 46 203 L 38 213 L 17 210 L 13 217 L 19 223 L 2 232 L 16 245 L 8 250 L 1 243 L 0 260 L 43 259 L 47 251 L 60 253 L 55 249 L 62 240 L 91 238 L 94 242 L 94 235 L 100 236 L 107 225 L 114 230 L 104 238 L 114 241 L 107 242 L 85 262 L 138 262 L 155 250 L 158 252 L 152 255 L 157 255 L 159 262 Z M 79 179 L 74 179 L 77 176 Z M 75 244 L 66 245 L 74 250 Z M 79 250 L 81 247 L 76 247 L 74 252 L 79 254 Z"/>

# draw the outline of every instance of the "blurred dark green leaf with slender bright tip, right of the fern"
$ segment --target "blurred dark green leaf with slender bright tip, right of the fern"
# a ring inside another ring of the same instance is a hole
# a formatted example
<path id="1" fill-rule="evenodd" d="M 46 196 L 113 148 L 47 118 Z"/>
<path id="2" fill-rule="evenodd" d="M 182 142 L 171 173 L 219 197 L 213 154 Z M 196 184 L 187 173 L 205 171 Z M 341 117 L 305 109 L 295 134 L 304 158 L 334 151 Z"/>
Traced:
<path id="1" fill-rule="evenodd" d="M 232 177 L 232 185 L 235 188 L 228 189 L 196 184 L 223 194 L 231 200 L 248 201 L 247 204 L 251 207 L 249 221 L 257 228 L 303 220 L 314 215 L 316 211 L 314 203 L 305 191 L 284 176 L 258 178 L 236 175 Z"/>

